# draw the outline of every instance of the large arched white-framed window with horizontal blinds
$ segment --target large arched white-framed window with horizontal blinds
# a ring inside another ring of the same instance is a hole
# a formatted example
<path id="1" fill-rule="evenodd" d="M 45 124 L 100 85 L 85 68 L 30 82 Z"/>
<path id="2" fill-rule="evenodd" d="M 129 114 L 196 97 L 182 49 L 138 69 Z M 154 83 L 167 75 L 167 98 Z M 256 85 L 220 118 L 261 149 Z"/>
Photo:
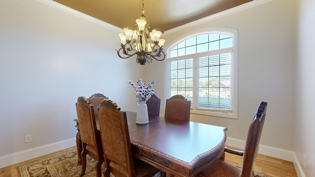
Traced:
<path id="1" fill-rule="evenodd" d="M 167 96 L 191 101 L 191 113 L 237 118 L 237 30 L 183 38 L 168 49 Z"/>

